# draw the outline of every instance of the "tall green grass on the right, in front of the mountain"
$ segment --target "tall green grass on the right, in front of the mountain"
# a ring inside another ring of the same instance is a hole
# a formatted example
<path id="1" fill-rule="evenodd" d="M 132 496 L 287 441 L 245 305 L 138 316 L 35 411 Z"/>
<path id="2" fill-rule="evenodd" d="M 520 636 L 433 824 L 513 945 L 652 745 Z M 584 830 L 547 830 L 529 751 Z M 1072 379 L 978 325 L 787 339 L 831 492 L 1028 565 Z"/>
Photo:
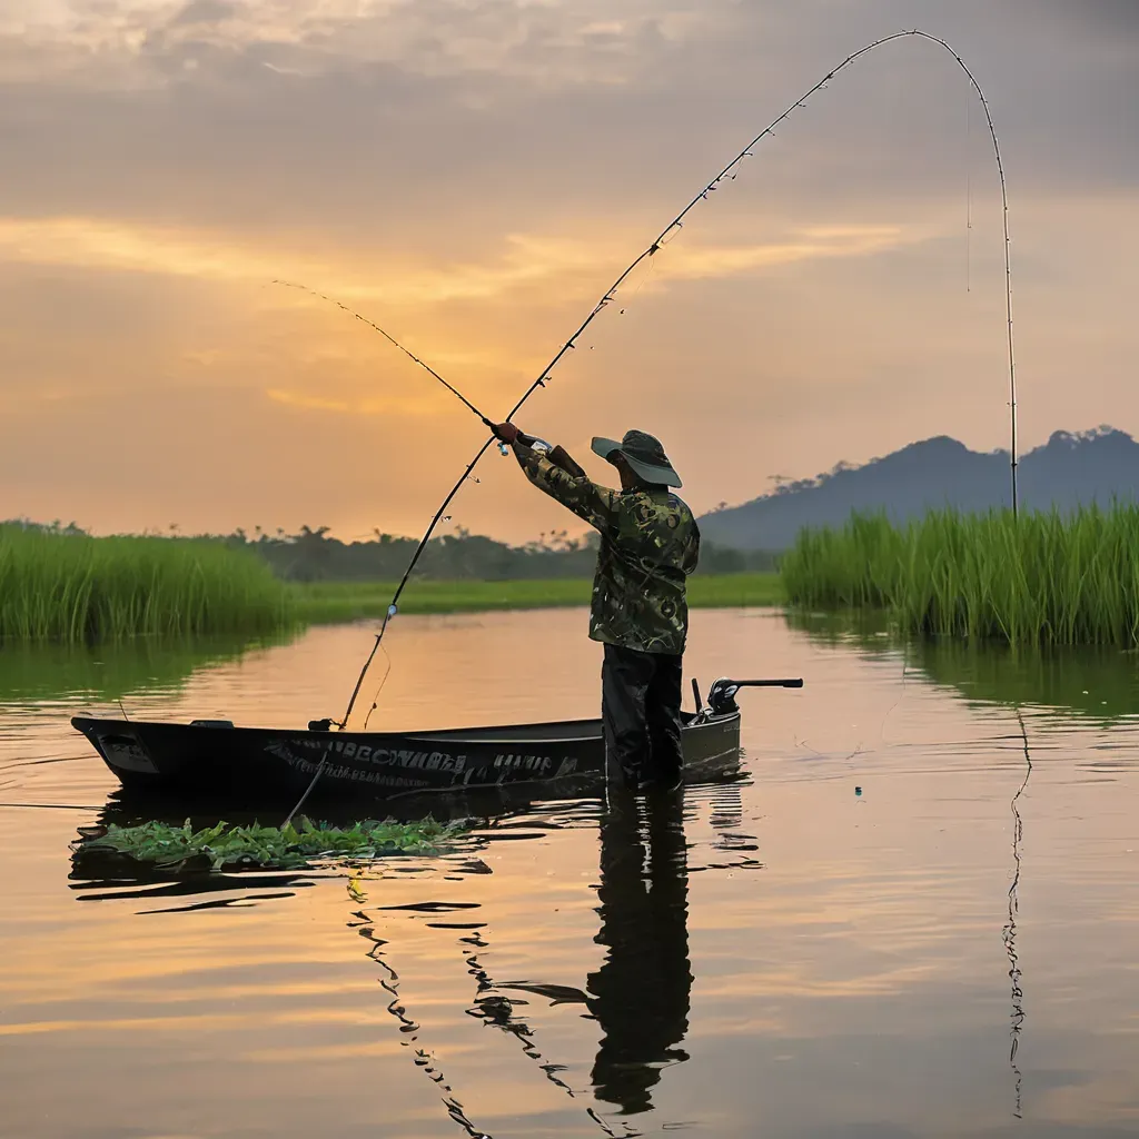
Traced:
<path id="1" fill-rule="evenodd" d="M 1139 507 L 935 510 L 805 530 L 780 566 L 793 605 L 882 608 L 904 632 L 1011 645 L 1139 644 Z"/>

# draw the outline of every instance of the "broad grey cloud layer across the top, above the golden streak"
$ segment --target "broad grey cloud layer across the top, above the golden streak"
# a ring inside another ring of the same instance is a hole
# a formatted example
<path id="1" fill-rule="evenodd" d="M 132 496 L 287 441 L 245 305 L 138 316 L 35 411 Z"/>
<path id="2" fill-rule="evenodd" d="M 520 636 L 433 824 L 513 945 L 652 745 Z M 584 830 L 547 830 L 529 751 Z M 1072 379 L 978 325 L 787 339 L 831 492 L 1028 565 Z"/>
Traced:
<path id="1" fill-rule="evenodd" d="M 0 100 L 8 208 L 368 226 L 413 194 L 498 227 L 671 205 L 853 48 L 934 13 L 990 95 L 1017 196 L 1134 185 L 1133 69 L 1056 6 L 991 7 L 630 0 L 614 19 L 600 0 L 253 0 L 212 24 L 178 5 L 79 7 L 0 41 L 18 88 Z M 943 196 L 970 98 L 941 49 L 886 46 L 765 141 L 746 182 L 830 208 L 884 187 Z"/>

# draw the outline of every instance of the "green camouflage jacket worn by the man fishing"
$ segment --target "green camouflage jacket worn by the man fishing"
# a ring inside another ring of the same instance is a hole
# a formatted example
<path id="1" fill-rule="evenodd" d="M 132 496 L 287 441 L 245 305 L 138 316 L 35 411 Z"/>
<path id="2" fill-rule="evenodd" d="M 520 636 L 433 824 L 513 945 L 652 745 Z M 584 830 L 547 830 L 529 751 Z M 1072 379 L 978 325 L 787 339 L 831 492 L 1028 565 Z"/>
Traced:
<path id="1" fill-rule="evenodd" d="M 667 487 L 615 491 L 571 474 L 523 443 L 526 477 L 601 535 L 589 636 L 642 653 L 679 655 L 688 636 L 685 587 L 699 557 L 693 511 Z M 576 464 L 570 464 L 580 470 Z"/>

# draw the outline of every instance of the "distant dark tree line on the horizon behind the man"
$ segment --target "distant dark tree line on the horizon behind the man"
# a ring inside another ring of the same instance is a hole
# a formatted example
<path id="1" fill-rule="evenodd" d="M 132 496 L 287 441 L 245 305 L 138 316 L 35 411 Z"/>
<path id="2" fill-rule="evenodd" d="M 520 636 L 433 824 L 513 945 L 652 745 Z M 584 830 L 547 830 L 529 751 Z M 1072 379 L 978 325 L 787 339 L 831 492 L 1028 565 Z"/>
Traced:
<path id="1" fill-rule="evenodd" d="M 83 534 L 74 523 L 41 525 L 19 519 L 17 525 L 57 534 Z M 221 541 L 227 546 L 253 550 L 278 577 L 286 581 L 391 581 L 402 576 L 418 540 L 375 532 L 366 541 L 341 541 L 330 536 L 328 526 L 302 526 L 300 533 L 278 530 L 269 534 L 260 526 L 251 535 L 238 528 L 232 534 L 182 536 L 171 526 L 167 541 Z M 773 570 L 777 555 L 763 550 L 741 551 L 700 543 L 698 573 L 741 573 Z M 439 580 L 473 577 L 481 581 L 509 581 L 534 577 L 588 577 L 597 562 L 597 534 L 570 538 L 566 531 L 539 535 L 524 546 L 508 546 L 461 527 L 454 534 L 434 538 L 416 565 L 416 575 Z"/>

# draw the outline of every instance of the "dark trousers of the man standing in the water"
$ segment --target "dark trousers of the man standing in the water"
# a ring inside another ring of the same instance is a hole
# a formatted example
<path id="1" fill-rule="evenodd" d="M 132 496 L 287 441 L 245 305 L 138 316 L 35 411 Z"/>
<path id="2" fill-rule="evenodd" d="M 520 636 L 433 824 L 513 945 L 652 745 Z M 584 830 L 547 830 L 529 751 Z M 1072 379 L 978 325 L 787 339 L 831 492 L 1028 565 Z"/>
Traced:
<path id="1" fill-rule="evenodd" d="M 601 720 L 611 779 L 680 778 L 680 679 L 683 657 L 605 646 Z"/>

